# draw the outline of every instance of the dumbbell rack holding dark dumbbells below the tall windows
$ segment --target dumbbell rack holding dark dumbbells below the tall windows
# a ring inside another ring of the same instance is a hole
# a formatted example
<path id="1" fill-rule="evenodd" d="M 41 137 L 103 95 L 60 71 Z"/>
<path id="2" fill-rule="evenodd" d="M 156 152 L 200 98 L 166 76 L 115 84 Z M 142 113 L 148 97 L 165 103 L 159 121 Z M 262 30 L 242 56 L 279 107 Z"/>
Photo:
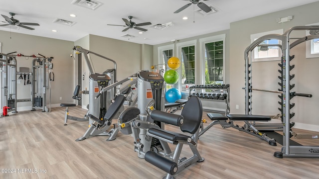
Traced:
<path id="1" fill-rule="evenodd" d="M 189 96 L 198 96 L 203 109 L 214 112 L 229 112 L 229 85 L 195 85 L 189 87 Z M 225 101 L 224 103 L 220 103 Z M 213 103 L 213 104 L 212 104 Z"/>

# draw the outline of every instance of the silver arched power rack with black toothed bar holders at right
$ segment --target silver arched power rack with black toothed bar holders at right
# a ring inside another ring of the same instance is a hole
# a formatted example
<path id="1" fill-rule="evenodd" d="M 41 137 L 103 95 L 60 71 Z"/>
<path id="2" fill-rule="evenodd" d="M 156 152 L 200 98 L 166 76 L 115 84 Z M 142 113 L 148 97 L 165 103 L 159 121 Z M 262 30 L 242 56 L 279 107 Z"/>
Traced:
<path id="1" fill-rule="evenodd" d="M 305 38 L 299 38 L 295 42 L 290 44 L 290 34 L 294 30 L 310 30 L 309 36 Z M 246 114 L 251 114 L 251 96 L 252 96 L 252 84 L 251 84 L 251 61 L 249 61 L 249 53 L 255 49 L 260 43 L 268 39 L 278 39 L 282 41 L 282 77 L 279 77 L 282 80 L 280 84 L 282 86 L 282 91 L 278 91 L 282 93 L 282 102 L 279 102 L 282 105 L 282 118 L 283 118 L 283 147 L 281 152 L 275 152 L 274 156 L 277 158 L 283 157 L 319 157 L 319 146 L 292 146 L 290 145 L 290 134 L 291 134 L 291 124 L 290 119 L 294 116 L 294 113 L 290 113 L 290 109 L 294 106 L 294 104 L 290 104 L 290 99 L 297 96 L 311 97 L 310 94 L 303 93 L 295 93 L 291 92 L 290 89 L 294 86 L 290 84 L 290 80 L 294 77 L 290 75 L 290 70 L 293 66 L 290 65 L 290 61 L 293 57 L 290 56 L 290 49 L 295 47 L 296 45 L 305 42 L 307 40 L 311 40 L 314 38 L 318 38 L 319 26 L 295 26 L 286 31 L 283 35 L 280 34 L 269 34 L 262 36 L 255 40 L 250 46 L 248 46 L 244 53 L 245 58 L 245 105 Z M 316 36 L 317 35 L 317 36 Z M 250 57 L 250 59 L 252 59 Z M 266 90 L 267 91 L 267 90 Z M 273 92 L 273 91 L 269 91 Z M 277 92 L 277 91 L 276 91 Z"/>

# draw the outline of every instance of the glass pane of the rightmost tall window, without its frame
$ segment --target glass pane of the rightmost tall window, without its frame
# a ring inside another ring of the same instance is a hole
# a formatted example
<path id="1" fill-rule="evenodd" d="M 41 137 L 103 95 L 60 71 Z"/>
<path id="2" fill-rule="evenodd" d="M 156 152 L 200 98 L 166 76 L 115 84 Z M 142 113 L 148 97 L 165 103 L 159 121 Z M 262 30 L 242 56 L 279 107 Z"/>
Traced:
<path id="1" fill-rule="evenodd" d="M 223 84 L 223 41 L 205 44 L 205 84 Z"/>

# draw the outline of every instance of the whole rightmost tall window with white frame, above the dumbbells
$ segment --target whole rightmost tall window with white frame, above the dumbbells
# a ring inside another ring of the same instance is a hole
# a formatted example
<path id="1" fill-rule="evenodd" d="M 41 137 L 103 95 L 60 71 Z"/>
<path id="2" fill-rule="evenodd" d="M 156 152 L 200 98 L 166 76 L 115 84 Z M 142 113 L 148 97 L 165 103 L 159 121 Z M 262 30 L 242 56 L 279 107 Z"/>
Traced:
<path id="1" fill-rule="evenodd" d="M 199 39 L 201 84 L 224 84 L 226 34 Z"/>

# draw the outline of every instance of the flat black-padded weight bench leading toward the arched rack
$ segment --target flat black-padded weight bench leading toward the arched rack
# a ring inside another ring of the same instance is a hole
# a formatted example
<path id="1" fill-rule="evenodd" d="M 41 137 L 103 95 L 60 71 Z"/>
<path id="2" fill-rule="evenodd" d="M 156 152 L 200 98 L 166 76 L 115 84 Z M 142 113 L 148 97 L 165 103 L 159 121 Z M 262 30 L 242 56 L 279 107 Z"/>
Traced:
<path id="1" fill-rule="evenodd" d="M 220 113 L 207 113 L 207 116 L 212 120 L 212 122 L 206 127 L 203 127 L 203 122 L 201 123 L 201 131 L 199 136 L 205 133 L 210 127 L 215 124 L 220 124 L 223 129 L 233 127 L 240 131 L 246 132 L 253 136 L 259 137 L 262 140 L 268 142 L 269 145 L 276 146 L 276 140 L 267 137 L 266 134 L 258 131 L 249 121 L 270 121 L 270 116 L 263 115 L 246 115 L 246 114 L 220 114 Z M 239 127 L 237 124 L 234 124 L 234 121 L 243 121 L 247 127 Z"/>

